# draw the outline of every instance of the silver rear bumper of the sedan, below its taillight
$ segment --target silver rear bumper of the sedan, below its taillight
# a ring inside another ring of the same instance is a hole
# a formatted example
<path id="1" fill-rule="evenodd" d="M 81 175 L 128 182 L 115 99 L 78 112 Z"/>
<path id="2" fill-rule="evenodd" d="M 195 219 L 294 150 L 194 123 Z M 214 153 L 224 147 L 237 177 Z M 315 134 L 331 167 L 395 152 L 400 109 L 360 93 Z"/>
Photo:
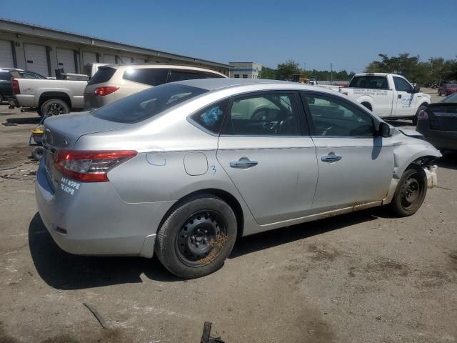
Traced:
<path id="1" fill-rule="evenodd" d="M 41 159 L 36 204 L 61 249 L 71 254 L 152 257 L 159 223 L 173 202 L 126 203 L 109 182 L 81 182 L 73 189 L 54 192 Z"/>

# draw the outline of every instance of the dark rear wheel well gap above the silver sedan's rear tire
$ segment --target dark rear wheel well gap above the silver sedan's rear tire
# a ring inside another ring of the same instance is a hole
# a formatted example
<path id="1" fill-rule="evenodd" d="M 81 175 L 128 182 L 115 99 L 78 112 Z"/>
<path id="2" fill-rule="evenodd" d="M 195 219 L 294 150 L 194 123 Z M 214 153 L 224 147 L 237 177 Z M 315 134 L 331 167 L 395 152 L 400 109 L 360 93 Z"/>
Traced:
<path id="1" fill-rule="evenodd" d="M 243 227 L 244 227 L 244 217 L 243 217 L 243 209 L 241 209 L 241 205 L 236 200 L 233 195 L 231 195 L 229 192 L 223 191 L 222 189 L 213 189 L 213 188 L 208 188 L 208 189 L 200 189 L 199 191 L 192 192 L 190 194 L 187 194 L 185 197 L 182 197 L 179 199 L 164 215 L 164 218 L 162 218 L 160 224 L 159 224 L 159 229 L 162 227 L 162 224 L 166 221 L 166 219 L 170 216 L 171 213 L 174 212 L 178 207 L 180 207 L 182 204 L 189 202 L 191 199 L 195 197 L 199 197 L 201 195 L 208 194 L 208 195 L 214 195 L 216 197 L 221 198 L 229 204 L 233 212 L 235 213 L 236 217 L 236 227 L 237 227 L 237 233 L 236 237 L 242 237 L 243 236 Z"/>

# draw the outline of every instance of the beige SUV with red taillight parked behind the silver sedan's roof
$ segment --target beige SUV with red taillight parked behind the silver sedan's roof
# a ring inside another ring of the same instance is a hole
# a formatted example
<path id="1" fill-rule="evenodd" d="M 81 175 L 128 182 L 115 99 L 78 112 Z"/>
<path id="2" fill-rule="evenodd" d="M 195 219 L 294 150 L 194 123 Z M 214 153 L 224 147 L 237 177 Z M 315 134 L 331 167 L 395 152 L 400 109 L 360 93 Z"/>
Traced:
<path id="1" fill-rule="evenodd" d="M 225 78 L 211 69 L 170 64 L 101 66 L 84 89 L 84 109 L 97 109 L 137 91 L 167 82 Z"/>

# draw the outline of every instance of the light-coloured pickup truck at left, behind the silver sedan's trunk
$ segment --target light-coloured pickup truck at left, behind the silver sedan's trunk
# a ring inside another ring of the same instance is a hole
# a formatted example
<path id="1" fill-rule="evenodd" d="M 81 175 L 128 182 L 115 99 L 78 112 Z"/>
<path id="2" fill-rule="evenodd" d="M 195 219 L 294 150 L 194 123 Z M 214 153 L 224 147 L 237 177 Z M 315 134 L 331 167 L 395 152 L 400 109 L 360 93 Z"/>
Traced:
<path id="1" fill-rule="evenodd" d="M 102 65 L 105 64 L 92 64 L 87 70 L 88 75 L 93 76 Z M 36 108 L 40 116 L 66 114 L 84 109 L 84 89 L 87 81 L 13 79 L 11 85 L 15 99 L 11 99 L 10 104 Z"/>

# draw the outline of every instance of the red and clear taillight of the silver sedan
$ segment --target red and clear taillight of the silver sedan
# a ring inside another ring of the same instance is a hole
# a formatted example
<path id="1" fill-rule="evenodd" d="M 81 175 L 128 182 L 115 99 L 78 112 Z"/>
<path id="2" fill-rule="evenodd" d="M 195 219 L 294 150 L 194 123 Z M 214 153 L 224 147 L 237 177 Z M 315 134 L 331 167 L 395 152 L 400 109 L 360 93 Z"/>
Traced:
<path id="1" fill-rule="evenodd" d="M 54 159 L 54 166 L 70 179 L 83 182 L 107 182 L 109 170 L 136 154 L 138 153 L 134 150 L 60 150 Z"/>

